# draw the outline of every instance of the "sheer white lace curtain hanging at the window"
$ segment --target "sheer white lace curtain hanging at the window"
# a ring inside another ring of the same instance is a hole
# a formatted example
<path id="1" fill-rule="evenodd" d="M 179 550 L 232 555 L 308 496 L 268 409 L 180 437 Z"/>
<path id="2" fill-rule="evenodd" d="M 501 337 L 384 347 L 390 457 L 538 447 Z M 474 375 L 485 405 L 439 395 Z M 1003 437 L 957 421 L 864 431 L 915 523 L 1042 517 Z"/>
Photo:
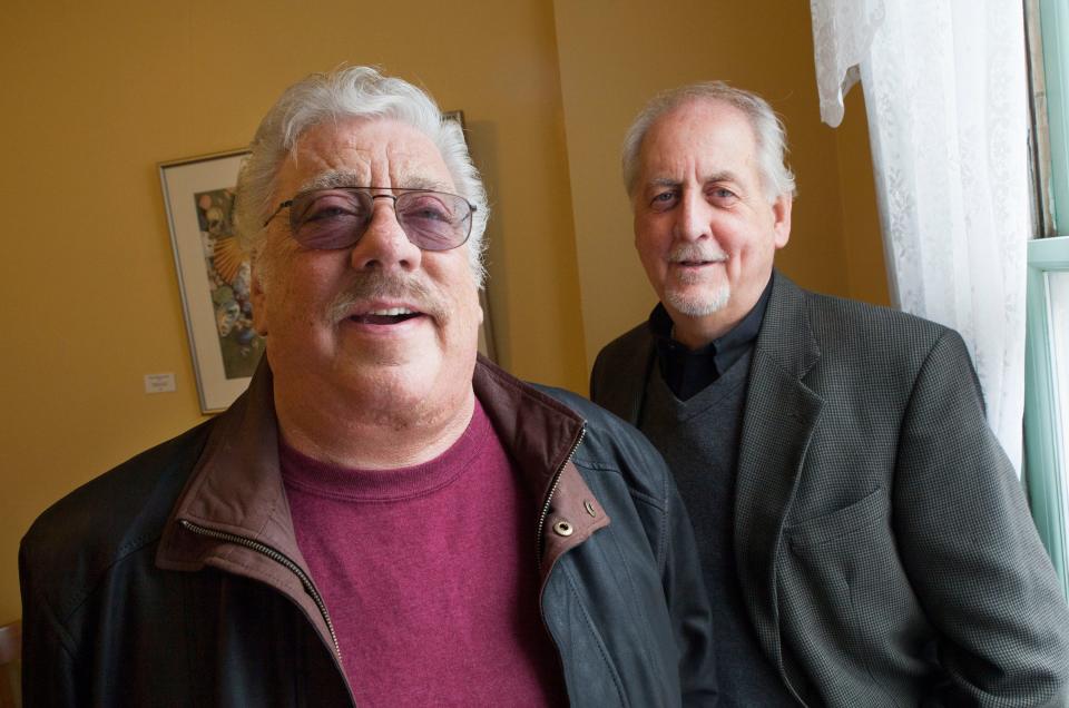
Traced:
<path id="1" fill-rule="evenodd" d="M 810 0 L 821 117 L 861 78 L 892 298 L 951 326 L 1021 469 L 1030 228 L 1022 6 Z"/>

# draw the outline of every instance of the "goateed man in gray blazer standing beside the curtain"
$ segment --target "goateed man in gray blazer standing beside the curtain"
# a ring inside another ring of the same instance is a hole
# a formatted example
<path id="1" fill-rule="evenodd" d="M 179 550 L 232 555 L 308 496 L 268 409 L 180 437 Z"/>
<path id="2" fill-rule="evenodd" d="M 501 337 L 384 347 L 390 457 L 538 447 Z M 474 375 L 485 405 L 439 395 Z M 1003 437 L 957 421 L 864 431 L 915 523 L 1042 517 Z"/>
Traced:
<path id="1" fill-rule="evenodd" d="M 1066 705 L 1069 610 L 965 346 L 773 269 L 784 141 L 719 82 L 639 114 L 624 177 L 660 304 L 590 385 L 677 476 L 720 705 Z"/>

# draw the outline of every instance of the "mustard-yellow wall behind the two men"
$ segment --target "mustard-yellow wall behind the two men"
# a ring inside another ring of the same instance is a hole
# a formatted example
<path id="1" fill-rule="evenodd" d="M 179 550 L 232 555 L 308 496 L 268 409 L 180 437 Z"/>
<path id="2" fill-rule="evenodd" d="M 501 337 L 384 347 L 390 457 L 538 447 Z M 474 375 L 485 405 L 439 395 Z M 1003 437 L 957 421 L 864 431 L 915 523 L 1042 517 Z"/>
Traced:
<path id="1" fill-rule="evenodd" d="M 585 392 L 598 347 L 645 316 L 618 144 L 650 94 L 683 81 L 728 78 L 784 114 L 802 191 L 784 269 L 885 299 L 863 106 L 851 97 L 838 132 L 817 124 L 805 6 L 8 3 L 0 622 L 20 613 L 32 519 L 202 420 L 157 164 L 243 146 L 311 71 L 377 63 L 464 110 L 493 207 L 499 352 L 520 376 Z M 144 374 L 160 372 L 177 392 L 146 395 Z"/>

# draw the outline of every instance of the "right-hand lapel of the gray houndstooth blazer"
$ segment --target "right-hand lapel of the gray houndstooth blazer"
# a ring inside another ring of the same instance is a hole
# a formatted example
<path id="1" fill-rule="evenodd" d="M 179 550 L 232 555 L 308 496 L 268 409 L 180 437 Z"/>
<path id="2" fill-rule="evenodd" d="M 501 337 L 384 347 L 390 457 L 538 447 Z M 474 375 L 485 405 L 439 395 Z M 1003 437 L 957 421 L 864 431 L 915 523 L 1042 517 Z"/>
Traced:
<path id="1" fill-rule="evenodd" d="M 802 378 L 821 356 L 805 293 L 775 273 L 751 363 L 735 490 L 735 562 L 765 651 L 783 670 L 776 558 L 823 399 Z"/>

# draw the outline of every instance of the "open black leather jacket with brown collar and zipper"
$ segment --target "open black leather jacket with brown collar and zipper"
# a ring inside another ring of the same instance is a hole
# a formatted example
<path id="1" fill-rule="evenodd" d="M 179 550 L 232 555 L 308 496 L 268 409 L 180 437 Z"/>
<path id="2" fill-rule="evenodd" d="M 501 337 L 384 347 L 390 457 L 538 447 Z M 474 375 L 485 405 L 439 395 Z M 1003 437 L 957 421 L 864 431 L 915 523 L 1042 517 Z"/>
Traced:
<path id="1" fill-rule="evenodd" d="M 578 396 L 486 362 L 473 383 L 542 500 L 531 562 L 571 705 L 713 704 L 706 593 L 660 456 Z M 293 534 L 271 392 L 264 364 L 226 413 L 33 524 L 19 554 L 28 707 L 352 705 Z"/>

